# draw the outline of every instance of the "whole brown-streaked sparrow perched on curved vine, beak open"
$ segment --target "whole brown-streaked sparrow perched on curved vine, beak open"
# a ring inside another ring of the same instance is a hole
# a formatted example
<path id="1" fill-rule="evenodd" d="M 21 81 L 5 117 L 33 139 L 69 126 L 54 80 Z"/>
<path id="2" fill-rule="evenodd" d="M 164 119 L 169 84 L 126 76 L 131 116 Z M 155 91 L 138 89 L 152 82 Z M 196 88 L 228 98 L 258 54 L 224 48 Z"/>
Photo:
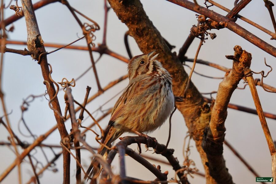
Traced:
<path id="1" fill-rule="evenodd" d="M 110 146 L 124 132 L 148 133 L 159 128 L 174 108 L 172 77 L 156 60 L 156 51 L 134 56 L 128 63 L 129 84 L 118 98 L 105 129 L 104 145 L 98 154 L 105 155 Z M 93 175 L 97 166 L 92 160 L 85 179 Z M 92 170 L 92 171 L 91 171 Z M 90 172 L 91 171 L 91 172 Z"/>

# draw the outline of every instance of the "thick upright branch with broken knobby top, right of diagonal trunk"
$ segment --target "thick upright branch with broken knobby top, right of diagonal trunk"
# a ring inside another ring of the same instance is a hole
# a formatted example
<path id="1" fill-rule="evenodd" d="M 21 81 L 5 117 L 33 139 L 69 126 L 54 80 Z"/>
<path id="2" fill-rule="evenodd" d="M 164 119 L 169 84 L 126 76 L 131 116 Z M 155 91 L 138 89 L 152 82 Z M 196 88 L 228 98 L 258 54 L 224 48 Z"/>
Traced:
<path id="1" fill-rule="evenodd" d="M 244 68 L 251 64 L 251 54 L 238 45 L 234 48 L 233 69 L 226 72 L 219 84 L 215 104 L 211 112 L 209 128 L 206 128 L 202 147 L 207 154 L 210 175 L 218 183 L 233 183 L 223 158 L 224 122 L 227 117 L 227 106 L 238 83 L 243 78 Z"/>

